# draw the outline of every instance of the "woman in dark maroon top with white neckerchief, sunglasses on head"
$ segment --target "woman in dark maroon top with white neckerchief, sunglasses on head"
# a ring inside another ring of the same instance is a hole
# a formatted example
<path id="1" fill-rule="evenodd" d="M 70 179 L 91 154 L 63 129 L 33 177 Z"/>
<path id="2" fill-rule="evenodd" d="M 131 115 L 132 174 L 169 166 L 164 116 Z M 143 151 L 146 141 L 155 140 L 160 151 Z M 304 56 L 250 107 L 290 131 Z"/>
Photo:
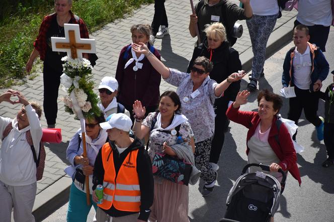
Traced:
<path id="1" fill-rule="evenodd" d="M 145 43 L 151 53 L 160 60 L 158 51 L 148 43 L 151 34 L 149 25 L 133 25 L 130 32 L 133 43 Z M 129 110 L 130 114 L 135 100 L 141 101 L 142 105 L 146 107 L 145 116 L 155 111 L 159 103 L 161 76 L 152 67 L 144 54 L 136 53 L 132 50 L 131 44 L 124 46 L 121 50 L 117 64 L 116 79 L 119 84 L 117 100 Z M 133 123 L 134 119 L 132 115 L 130 116 Z"/>

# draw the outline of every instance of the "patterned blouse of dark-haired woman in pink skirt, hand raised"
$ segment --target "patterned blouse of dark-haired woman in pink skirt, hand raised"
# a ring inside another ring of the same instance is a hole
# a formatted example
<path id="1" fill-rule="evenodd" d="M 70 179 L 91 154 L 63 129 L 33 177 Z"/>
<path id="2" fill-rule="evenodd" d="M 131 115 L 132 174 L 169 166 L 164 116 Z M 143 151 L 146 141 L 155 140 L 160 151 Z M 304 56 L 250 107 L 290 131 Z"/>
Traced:
<path id="1" fill-rule="evenodd" d="M 148 116 L 145 118 L 145 120 L 143 120 L 142 125 L 151 129 L 151 125 L 153 123 L 154 116 L 155 116 L 155 112 L 149 113 Z M 156 129 L 156 128 L 158 128 L 157 123 L 155 123 L 153 129 Z M 179 133 L 183 140 L 190 141 L 190 138 L 194 136 L 193 131 L 188 121 L 181 124 Z M 168 145 L 172 146 L 177 143 L 177 139 L 178 139 L 177 136 L 173 136 L 172 134 L 169 134 L 169 133 L 164 133 L 164 132 L 159 132 L 159 131 L 150 132 L 149 133 L 148 154 L 151 157 L 151 159 L 153 159 L 155 152 L 162 151 L 162 146 L 164 142 L 168 142 Z"/>

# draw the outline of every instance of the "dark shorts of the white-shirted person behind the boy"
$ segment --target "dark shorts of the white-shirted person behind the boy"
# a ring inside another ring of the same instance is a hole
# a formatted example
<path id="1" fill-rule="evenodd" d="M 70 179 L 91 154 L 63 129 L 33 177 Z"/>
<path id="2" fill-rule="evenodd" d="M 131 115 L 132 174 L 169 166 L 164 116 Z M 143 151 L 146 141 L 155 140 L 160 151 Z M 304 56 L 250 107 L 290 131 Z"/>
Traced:
<path id="1" fill-rule="evenodd" d="M 296 20 L 293 28 L 295 28 L 299 24 L 300 22 Z M 330 26 L 314 25 L 314 26 L 307 26 L 307 28 L 309 30 L 309 35 L 310 35 L 309 42 L 318 46 L 322 52 L 325 52 L 326 51 L 325 46 L 328 39 Z"/>

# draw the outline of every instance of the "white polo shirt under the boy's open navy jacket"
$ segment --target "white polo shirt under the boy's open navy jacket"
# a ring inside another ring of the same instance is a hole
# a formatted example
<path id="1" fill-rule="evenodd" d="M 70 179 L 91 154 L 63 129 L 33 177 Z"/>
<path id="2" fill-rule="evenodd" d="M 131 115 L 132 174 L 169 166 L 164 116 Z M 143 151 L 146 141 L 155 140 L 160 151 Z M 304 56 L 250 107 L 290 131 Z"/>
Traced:
<path id="1" fill-rule="evenodd" d="M 293 83 L 300 89 L 309 89 L 311 84 L 311 67 L 312 61 L 310 56 L 310 47 L 303 54 L 297 51 L 297 47 L 294 51 L 293 57 Z"/>

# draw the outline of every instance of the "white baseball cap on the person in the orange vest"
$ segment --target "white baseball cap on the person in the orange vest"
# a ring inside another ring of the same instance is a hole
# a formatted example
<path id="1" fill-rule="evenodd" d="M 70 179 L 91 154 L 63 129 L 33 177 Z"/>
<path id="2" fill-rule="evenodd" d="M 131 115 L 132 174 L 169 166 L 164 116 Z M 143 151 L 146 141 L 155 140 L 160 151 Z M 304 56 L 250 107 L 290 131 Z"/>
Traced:
<path id="1" fill-rule="evenodd" d="M 126 116 L 125 114 L 113 114 L 110 120 L 108 122 L 101 123 L 100 127 L 104 130 L 116 128 L 129 132 L 132 127 L 132 121 L 130 117 Z"/>

